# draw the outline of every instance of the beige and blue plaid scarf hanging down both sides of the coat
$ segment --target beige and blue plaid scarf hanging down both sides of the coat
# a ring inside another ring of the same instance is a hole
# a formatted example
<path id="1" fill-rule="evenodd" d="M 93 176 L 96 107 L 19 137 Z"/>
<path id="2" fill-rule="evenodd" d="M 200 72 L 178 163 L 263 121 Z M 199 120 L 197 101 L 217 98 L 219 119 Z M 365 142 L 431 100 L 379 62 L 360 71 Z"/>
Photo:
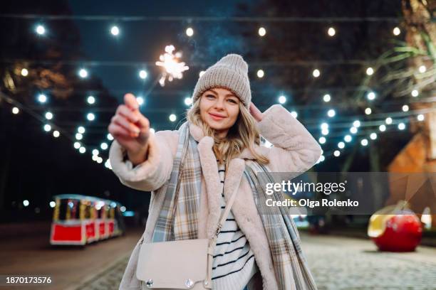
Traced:
<path id="1" fill-rule="evenodd" d="M 197 213 L 201 195 L 202 168 L 197 141 L 187 122 L 179 129 L 179 144 L 170 181 L 157 219 L 152 242 L 197 239 Z M 265 174 L 257 174 L 257 173 Z M 266 196 L 284 200 L 283 193 L 266 195 L 261 184 L 274 182 L 269 169 L 255 161 L 246 162 L 244 176 L 266 232 L 279 289 L 316 290 L 300 246 L 298 230 L 285 207 L 265 207 Z"/>

